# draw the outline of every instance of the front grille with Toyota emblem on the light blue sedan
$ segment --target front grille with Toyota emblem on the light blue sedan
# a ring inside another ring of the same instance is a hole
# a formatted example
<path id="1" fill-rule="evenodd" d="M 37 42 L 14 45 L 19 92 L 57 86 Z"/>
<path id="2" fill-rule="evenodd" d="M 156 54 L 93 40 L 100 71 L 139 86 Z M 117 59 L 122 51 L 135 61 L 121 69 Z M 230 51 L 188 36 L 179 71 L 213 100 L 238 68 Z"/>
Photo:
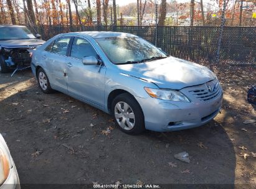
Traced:
<path id="1" fill-rule="evenodd" d="M 214 83 L 213 81 L 210 81 L 204 85 L 204 88 L 190 90 L 189 93 L 201 101 L 209 101 L 210 99 L 219 96 L 220 85 L 219 82 Z"/>

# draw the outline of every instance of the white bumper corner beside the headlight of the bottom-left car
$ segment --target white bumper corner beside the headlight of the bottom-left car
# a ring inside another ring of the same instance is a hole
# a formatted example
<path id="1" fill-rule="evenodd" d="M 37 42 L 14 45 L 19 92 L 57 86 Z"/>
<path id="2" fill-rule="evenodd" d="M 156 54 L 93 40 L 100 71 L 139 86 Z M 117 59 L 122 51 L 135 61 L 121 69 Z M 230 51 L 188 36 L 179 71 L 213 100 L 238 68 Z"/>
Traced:
<path id="1" fill-rule="evenodd" d="M 10 172 L 6 181 L 0 186 L 0 189 L 20 189 L 21 188 L 16 166 L 12 159 L 11 159 L 11 162 L 12 162 L 12 168 L 10 169 Z"/>

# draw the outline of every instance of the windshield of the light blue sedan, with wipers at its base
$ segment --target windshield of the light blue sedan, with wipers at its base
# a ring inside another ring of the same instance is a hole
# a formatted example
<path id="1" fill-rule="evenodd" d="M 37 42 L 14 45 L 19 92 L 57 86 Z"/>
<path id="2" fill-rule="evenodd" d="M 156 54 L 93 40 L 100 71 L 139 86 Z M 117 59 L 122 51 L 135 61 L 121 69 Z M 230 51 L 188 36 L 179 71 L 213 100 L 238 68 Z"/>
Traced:
<path id="1" fill-rule="evenodd" d="M 168 56 L 140 37 L 106 37 L 95 40 L 115 64 L 149 62 Z"/>

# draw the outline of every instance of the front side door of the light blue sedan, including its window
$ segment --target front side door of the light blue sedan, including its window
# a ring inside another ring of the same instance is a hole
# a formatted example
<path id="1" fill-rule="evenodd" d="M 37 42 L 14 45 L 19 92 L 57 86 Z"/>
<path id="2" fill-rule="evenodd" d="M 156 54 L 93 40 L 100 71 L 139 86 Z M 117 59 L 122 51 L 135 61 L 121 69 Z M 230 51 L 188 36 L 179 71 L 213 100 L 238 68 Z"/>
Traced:
<path id="1" fill-rule="evenodd" d="M 70 95 L 75 95 L 89 103 L 103 108 L 105 73 L 104 65 L 83 65 L 82 58 L 94 56 L 100 58 L 90 42 L 82 37 L 75 37 L 67 57 L 67 86 Z"/>

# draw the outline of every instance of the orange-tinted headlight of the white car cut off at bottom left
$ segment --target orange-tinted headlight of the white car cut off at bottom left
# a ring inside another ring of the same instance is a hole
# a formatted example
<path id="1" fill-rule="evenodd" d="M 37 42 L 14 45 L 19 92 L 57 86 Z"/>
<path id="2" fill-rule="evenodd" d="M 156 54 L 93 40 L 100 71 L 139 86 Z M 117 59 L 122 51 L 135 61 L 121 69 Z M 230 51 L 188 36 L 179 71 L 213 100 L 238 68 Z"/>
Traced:
<path id="1" fill-rule="evenodd" d="M 4 183 L 6 178 L 9 175 L 10 171 L 10 162 L 7 154 L 4 153 L 2 149 L 0 149 L 0 185 Z"/>

